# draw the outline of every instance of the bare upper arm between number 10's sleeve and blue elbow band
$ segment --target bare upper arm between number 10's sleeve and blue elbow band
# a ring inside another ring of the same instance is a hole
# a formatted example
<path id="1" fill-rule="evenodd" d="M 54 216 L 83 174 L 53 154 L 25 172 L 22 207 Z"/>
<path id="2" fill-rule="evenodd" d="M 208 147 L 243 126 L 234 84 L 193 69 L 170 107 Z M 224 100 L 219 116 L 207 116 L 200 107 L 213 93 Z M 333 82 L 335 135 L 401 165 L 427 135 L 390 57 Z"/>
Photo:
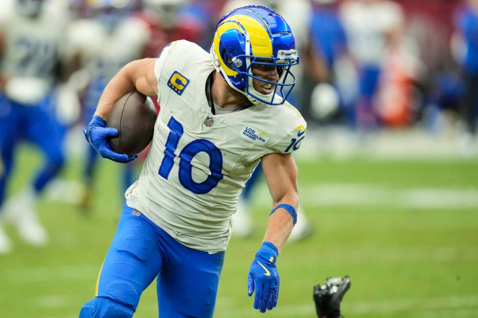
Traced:
<path id="1" fill-rule="evenodd" d="M 297 199 L 297 166 L 290 153 L 271 153 L 260 159 L 262 169 L 274 202 L 284 197 Z"/>

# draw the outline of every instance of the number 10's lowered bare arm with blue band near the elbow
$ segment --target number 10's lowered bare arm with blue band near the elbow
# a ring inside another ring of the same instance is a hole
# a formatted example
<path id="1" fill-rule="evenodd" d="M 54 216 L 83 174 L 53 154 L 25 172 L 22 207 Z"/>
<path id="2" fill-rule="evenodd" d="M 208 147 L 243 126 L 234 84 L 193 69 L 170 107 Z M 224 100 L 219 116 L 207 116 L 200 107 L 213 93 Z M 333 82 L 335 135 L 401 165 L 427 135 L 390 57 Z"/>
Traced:
<path id="1" fill-rule="evenodd" d="M 267 186 L 273 200 L 273 207 L 285 204 L 297 209 L 297 166 L 292 154 L 271 153 L 261 159 Z M 292 216 L 284 208 L 278 208 L 270 217 L 264 236 L 280 251 L 294 227 Z"/>

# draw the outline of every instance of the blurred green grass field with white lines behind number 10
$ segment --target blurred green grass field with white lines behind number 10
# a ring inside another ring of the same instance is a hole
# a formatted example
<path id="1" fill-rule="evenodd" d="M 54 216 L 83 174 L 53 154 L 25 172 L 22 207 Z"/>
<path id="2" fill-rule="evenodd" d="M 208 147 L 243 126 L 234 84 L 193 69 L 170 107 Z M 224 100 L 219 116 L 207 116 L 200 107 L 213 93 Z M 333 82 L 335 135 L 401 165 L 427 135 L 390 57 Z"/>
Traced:
<path id="1" fill-rule="evenodd" d="M 23 148 L 11 191 L 38 163 Z M 75 167 L 76 166 L 76 167 Z M 79 178 L 79 162 L 64 173 Z M 46 248 L 15 243 L 0 256 L 1 318 L 73 318 L 94 296 L 101 262 L 118 221 L 119 166 L 103 161 L 91 216 L 42 200 Z M 301 201 L 314 234 L 279 256 L 278 307 L 260 314 L 246 294 L 247 272 L 270 210 L 262 184 L 255 195 L 256 234 L 233 239 L 226 253 L 218 318 L 315 317 L 312 287 L 349 274 L 346 318 L 478 317 L 478 161 L 299 161 Z M 156 285 L 135 317 L 157 317 Z"/>

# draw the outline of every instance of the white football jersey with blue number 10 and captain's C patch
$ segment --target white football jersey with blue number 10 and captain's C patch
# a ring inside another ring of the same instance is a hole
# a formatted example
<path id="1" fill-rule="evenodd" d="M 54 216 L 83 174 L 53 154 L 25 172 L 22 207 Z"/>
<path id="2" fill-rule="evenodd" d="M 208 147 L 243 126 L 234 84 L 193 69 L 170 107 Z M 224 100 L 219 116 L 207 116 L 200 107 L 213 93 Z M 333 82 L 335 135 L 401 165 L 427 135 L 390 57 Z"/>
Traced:
<path id="1" fill-rule="evenodd" d="M 126 199 L 180 243 L 219 252 L 260 158 L 297 150 L 306 123 L 287 102 L 213 115 L 205 94 L 212 72 L 211 56 L 194 43 L 179 40 L 163 50 L 155 65 L 161 110 Z"/>

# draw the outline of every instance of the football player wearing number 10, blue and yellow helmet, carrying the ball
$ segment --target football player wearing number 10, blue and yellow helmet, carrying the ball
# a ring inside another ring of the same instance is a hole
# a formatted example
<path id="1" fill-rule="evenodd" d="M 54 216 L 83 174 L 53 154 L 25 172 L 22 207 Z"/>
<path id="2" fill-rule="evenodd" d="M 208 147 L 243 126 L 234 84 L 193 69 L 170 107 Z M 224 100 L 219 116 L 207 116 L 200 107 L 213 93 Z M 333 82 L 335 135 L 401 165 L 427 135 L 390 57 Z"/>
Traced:
<path id="1" fill-rule="evenodd" d="M 259 162 L 273 208 L 250 266 L 248 295 L 255 292 L 260 312 L 276 307 L 276 261 L 300 217 L 291 153 L 306 123 L 285 101 L 297 63 L 287 22 L 271 9 L 246 6 L 219 20 L 210 53 L 179 40 L 113 77 L 85 131 L 103 157 L 134 159 L 112 152 L 106 139 L 117 133 L 105 120 L 121 96 L 155 96 L 161 111 L 139 180 L 126 191 L 96 297 L 80 318 L 132 317 L 157 276 L 160 317 L 212 317 L 231 216 Z"/>

